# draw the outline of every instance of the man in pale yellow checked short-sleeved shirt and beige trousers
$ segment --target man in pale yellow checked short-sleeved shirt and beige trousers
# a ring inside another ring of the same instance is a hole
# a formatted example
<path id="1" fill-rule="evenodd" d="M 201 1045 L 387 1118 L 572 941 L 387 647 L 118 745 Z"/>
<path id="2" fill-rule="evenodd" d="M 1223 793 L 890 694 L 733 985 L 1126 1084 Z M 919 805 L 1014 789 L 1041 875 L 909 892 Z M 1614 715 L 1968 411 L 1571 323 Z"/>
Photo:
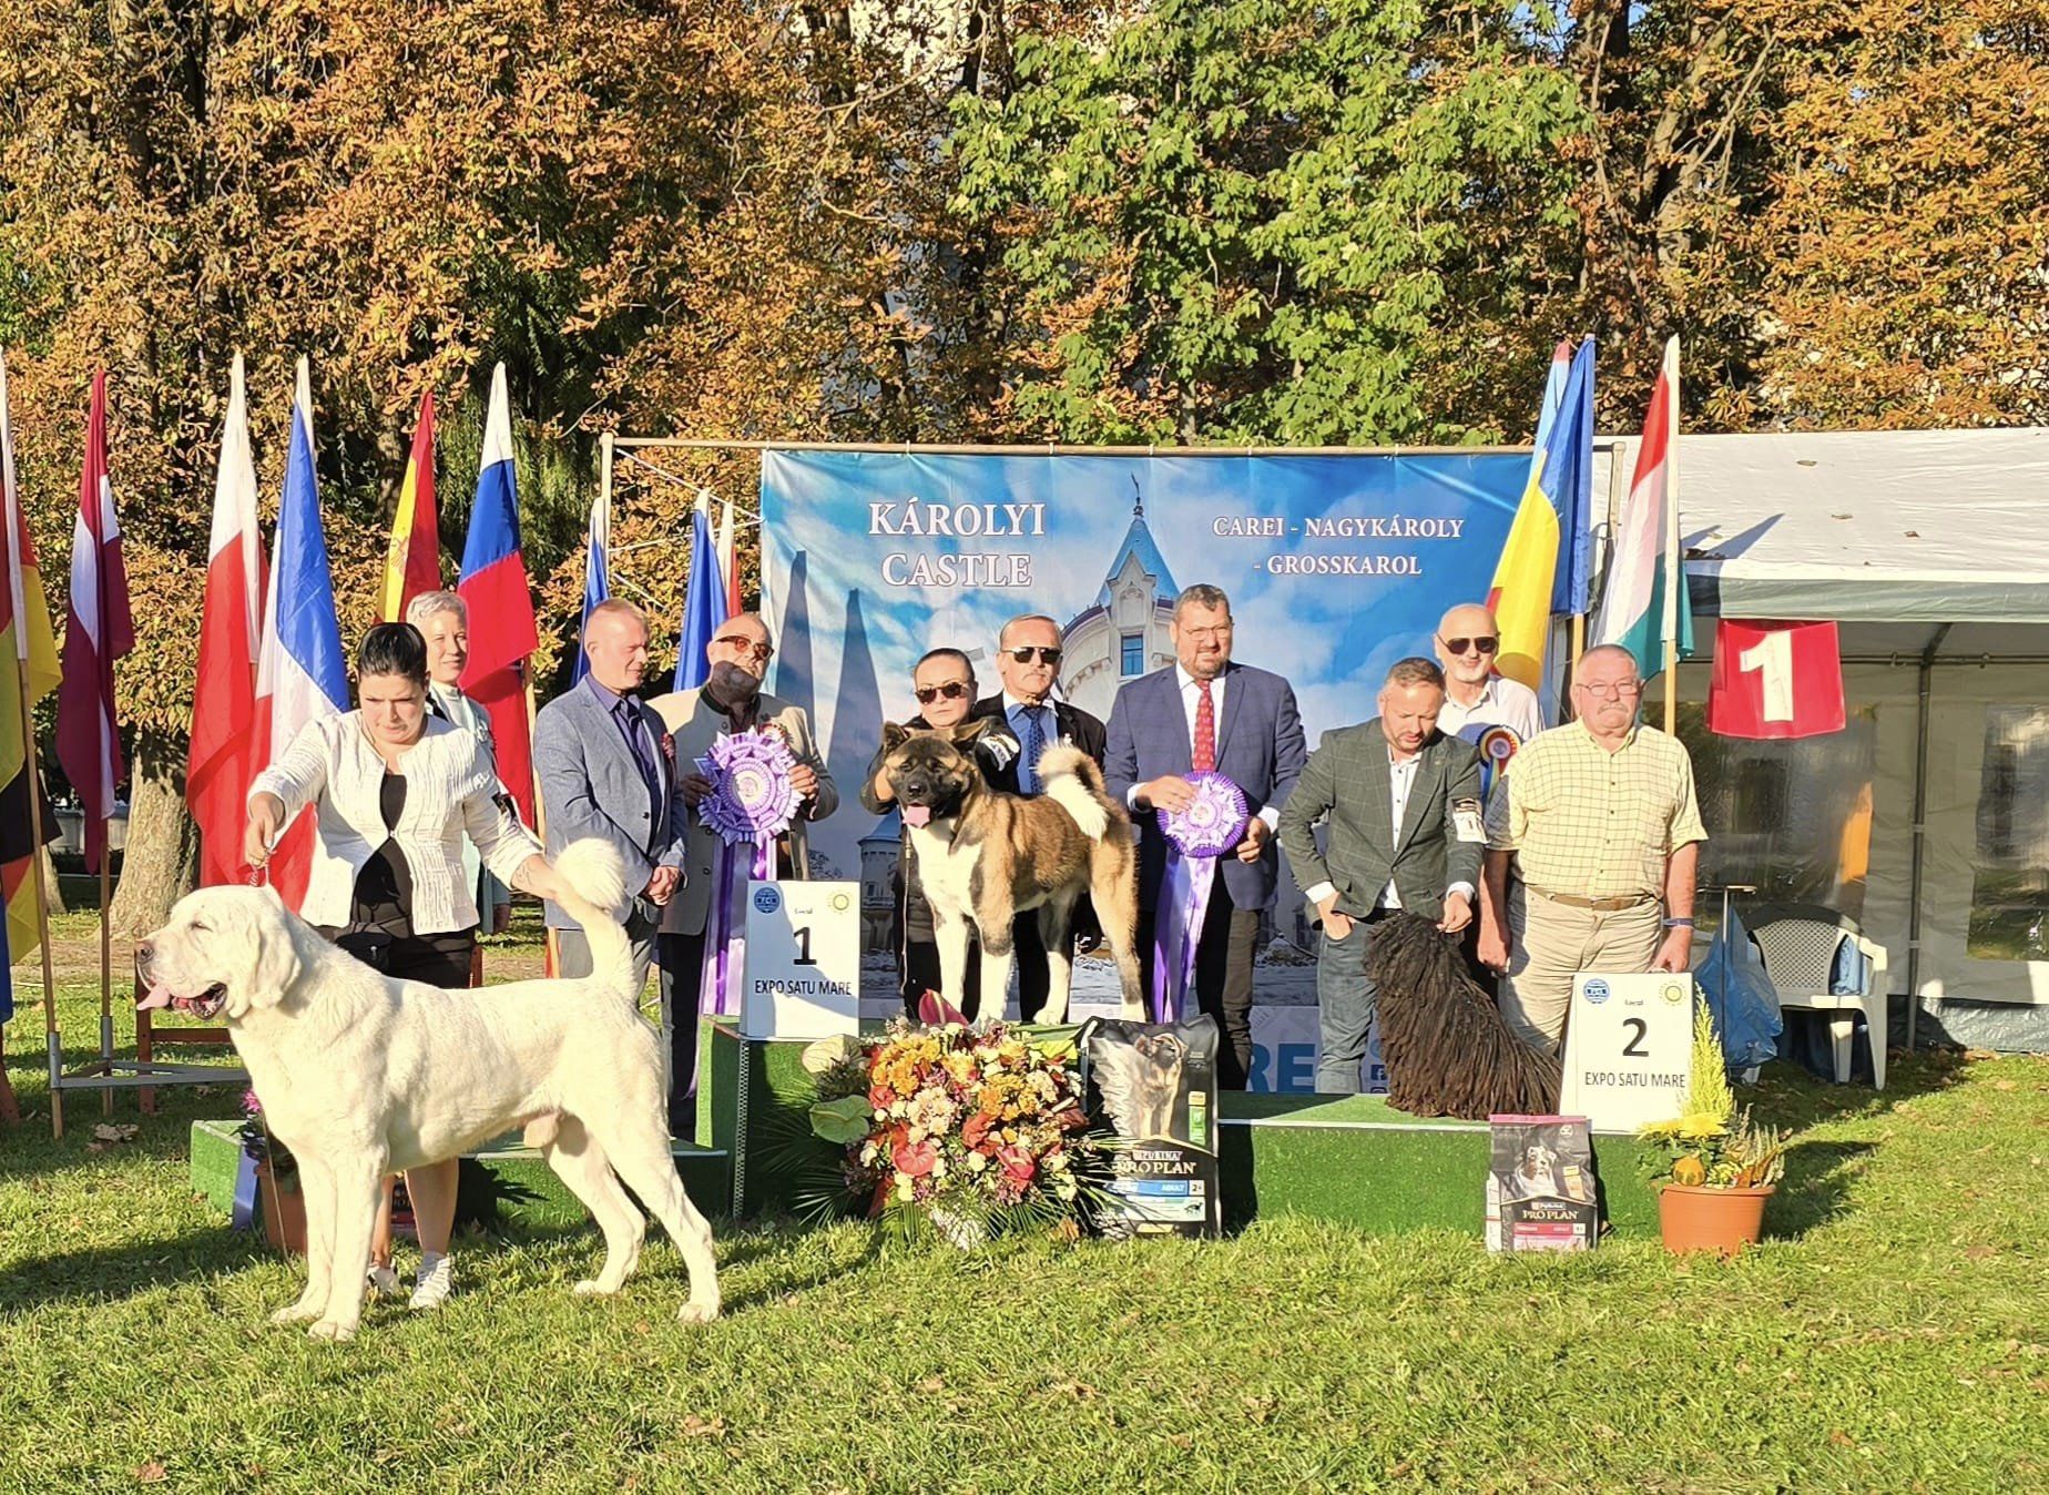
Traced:
<path id="1" fill-rule="evenodd" d="M 1531 1048 L 1557 1050 L 1578 972 L 1688 968 L 1707 831 L 1692 759 L 1637 722 L 1641 695 L 1629 650 L 1586 650 L 1578 720 L 1522 744 L 1488 798 L 1479 958 L 1506 974 L 1502 1017 Z"/>

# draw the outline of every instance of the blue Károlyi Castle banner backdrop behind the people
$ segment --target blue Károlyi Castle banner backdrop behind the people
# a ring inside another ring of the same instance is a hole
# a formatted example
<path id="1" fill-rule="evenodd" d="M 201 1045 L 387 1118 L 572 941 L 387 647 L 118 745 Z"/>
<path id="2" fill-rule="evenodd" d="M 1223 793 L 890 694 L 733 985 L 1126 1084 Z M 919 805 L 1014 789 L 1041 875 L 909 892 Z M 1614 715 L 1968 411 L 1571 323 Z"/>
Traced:
<path id="1" fill-rule="evenodd" d="M 1174 662 L 1176 593 L 1209 582 L 1231 599 L 1233 658 L 1293 683 L 1313 749 L 1375 716 L 1387 666 L 1430 654 L 1447 607 L 1486 597 L 1527 476 L 1520 453 L 766 453 L 768 689 L 811 714 L 840 787 L 811 861 L 861 882 L 865 995 L 889 995 L 897 824 L 854 792 L 883 722 L 918 712 L 920 654 L 965 650 L 992 695 L 998 630 L 1045 613 L 1061 625 L 1063 695 L 1109 720 L 1121 685 Z M 1289 880 L 1274 935 L 1313 949 Z M 1313 972 L 1285 970 L 1287 956 L 1262 966 L 1262 1001 L 1313 1001 Z"/>

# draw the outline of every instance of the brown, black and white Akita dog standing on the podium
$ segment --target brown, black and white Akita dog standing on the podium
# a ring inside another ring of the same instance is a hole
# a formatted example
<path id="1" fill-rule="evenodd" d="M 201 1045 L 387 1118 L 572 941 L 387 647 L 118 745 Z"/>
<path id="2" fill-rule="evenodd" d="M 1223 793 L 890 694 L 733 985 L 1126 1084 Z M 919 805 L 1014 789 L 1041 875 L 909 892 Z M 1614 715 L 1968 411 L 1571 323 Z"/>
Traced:
<path id="1" fill-rule="evenodd" d="M 992 790 L 967 753 L 984 726 L 986 720 L 943 730 L 895 722 L 883 728 L 883 773 L 910 831 L 924 898 L 932 904 L 940 997 L 957 1009 L 965 1003 L 969 927 L 981 937 L 984 1001 L 1000 995 L 1010 982 L 1010 921 L 1037 908 L 1049 980 L 1045 1007 L 1024 1017 L 1065 1021 L 1074 908 L 1088 894 L 1117 958 L 1123 1015 L 1145 1021 L 1131 816 L 1104 792 L 1096 761 L 1065 742 L 1039 757 L 1045 794 L 1027 800 Z"/>

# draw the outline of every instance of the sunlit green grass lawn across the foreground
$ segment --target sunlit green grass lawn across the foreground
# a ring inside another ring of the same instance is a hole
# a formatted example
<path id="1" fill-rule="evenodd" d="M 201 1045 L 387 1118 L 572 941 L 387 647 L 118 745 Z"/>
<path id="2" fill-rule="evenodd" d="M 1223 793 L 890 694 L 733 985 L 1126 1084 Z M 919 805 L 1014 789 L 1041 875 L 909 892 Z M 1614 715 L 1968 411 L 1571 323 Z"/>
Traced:
<path id="1" fill-rule="evenodd" d="M 299 1269 L 186 1187 L 189 1122 L 234 1095 L 123 1097 L 141 1130 L 96 1153 L 74 1095 L 53 1144 L 20 997 L 0 1493 L 2049 1487 L 2041 1060 L 1768 1079 L 1797 1150 L 1736 1263 L 1303 1218 L 981 1255 L 721 1228 L 727 1317 L 684 1329 L 666 1243 L 572 1298 L 598 1241 L 545 1202 L 463 1249 L 441 1315 L 324 1345 L 266 1323 Z M 84 1058 L 96 991 L 61 1001 Z"/>

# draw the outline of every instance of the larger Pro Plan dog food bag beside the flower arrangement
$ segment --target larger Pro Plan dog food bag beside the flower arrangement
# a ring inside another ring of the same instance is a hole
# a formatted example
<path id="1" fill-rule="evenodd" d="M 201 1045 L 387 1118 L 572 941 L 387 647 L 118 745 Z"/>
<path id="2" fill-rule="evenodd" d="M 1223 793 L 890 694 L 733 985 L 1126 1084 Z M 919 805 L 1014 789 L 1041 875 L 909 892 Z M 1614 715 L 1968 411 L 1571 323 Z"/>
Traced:
<path id="1" fill-rule="evenodd" d="M 1217 1235 L 1217 1048 L 1213 1017 L 1127 1023 L 1090 1017 L 1076 1040 L 1088 1116 L 1117 1134 L 1102 1233 Z"/>

